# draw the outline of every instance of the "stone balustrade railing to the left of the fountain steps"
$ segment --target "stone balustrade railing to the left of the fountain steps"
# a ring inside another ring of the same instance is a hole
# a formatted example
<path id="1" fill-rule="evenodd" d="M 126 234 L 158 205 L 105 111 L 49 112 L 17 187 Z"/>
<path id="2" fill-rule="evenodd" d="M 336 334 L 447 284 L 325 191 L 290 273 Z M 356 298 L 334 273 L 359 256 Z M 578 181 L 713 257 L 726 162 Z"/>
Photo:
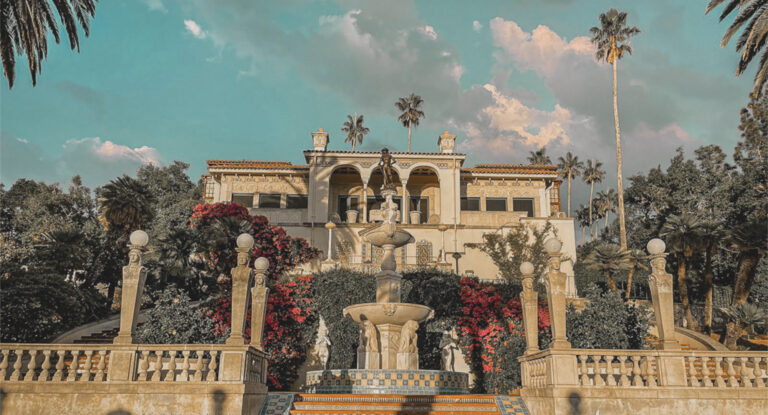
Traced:
<path id="1" fill-rule="evenodd" d="M 4 382 L 110 382 L 110 360 L 127 354 L 129 382 L 216 382 L 223 352 L 242 360 L 242 373 L 228 381 L 266 381 L 263 352 L 248 346 L 227 345 L 82 345 L 0 344 L 0 380 Z M 238 355 L 240 355 L 238 357 Z"/>

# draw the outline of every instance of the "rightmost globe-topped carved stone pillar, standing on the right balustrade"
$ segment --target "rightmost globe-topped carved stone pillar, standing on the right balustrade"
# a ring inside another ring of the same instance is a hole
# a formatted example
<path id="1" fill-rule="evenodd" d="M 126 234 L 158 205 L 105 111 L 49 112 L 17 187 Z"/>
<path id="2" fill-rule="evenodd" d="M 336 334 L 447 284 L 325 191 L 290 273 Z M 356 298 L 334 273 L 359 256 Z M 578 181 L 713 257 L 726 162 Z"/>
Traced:
<path id="1" fill-rule="evenodd" d="M 656 316 L 656 328 L 663 350 L 680 350 L 680 343 L 675 338 L 674 293 L 672 292 L 672 274 L 666 271 L 666 245 L 661 239 L 651 239 L 646 246 L 651 254 L 651 275 L 648 285 L 651 288 L 653 312 Z"/>

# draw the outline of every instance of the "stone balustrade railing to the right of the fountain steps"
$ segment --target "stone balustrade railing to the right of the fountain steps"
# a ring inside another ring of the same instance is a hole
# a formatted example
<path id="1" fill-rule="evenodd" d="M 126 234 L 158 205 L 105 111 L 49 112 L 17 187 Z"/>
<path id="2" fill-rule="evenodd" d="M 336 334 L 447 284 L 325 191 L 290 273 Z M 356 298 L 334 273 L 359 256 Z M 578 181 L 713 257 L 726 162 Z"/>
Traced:
<path id="1" fill-rule="evenodd" d="M 570 349 L 545 350 L 520 361 L 524 388 L 768 389 L 764 352 Z"/>

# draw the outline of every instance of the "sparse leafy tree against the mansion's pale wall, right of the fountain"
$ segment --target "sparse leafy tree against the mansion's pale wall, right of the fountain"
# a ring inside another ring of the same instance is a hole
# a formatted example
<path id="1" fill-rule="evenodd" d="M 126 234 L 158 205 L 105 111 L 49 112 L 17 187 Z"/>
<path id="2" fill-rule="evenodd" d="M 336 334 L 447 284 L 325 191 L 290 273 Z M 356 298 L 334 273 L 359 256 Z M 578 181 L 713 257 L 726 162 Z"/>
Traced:
<path id="1" fill-rule="evenodd" d="M 544 272 L 547 266 L 544 242 L 550 235 L 556 235 L 556 229 L 550 222 L 543 227 L 520 225 L 485 233 L 483 242 L 467 244 L 467 247 L 485 252 L 502 278 L 520 285 L 522 275 L 519 270 L 523 262 L 532 263 L 536 275 Z"/>

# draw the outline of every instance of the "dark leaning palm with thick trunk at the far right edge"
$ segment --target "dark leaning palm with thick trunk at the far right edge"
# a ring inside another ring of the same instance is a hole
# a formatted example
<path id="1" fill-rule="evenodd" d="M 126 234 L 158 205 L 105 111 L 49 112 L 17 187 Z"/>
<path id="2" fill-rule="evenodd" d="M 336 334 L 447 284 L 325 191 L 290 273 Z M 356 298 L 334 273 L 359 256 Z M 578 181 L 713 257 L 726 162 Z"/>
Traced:
<path id="1" fill-rule="evenodd" d="M 749 290 L 755 281 L 757 264 L 768 252 L 768 229 L 766 219 L 747 222 L 728 231 L 726 241 L 738 255 L 738 273 L 733 287 L 733 305 L 747 301 Z"/>

